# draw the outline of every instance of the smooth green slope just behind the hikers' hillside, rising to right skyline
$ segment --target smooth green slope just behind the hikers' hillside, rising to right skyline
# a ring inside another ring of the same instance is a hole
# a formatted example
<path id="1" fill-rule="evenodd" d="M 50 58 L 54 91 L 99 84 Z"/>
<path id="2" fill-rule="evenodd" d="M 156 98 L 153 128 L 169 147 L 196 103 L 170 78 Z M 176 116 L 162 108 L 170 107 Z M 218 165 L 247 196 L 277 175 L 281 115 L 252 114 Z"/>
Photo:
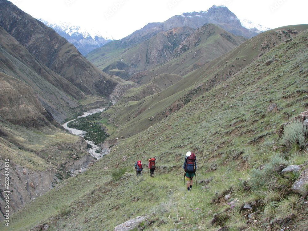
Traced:
<path id="1" fill-rule="evenodd" d="M 285 26 L 266 31 L 199 69 L 190 72 L 184 76 L 184 79 L 158 94 L 136 102 L 116 104 L 111 110 L 107 111 L 111 114 L 112 123 L 119 127 L 119 132 L 111 137 L 128 137 L 143 131 L 168 115 L 169 110 L 176 110 L 177 101 L 191 94 L 190 90 L 202 85 L 203 90 L 199 89 L 198 93 L 198 95 L 201 95 L 212 87 L 223 83 L 248 63 L 268 51 L 270 47 L 290 39 L 290 34 L 283 33 L 288 29 L 302 31 L 307 29 L 307 25 Z M 149 120 L 151 117 L 154 119 Z M 122 126 L 123 124 L 125 126 Z"/>

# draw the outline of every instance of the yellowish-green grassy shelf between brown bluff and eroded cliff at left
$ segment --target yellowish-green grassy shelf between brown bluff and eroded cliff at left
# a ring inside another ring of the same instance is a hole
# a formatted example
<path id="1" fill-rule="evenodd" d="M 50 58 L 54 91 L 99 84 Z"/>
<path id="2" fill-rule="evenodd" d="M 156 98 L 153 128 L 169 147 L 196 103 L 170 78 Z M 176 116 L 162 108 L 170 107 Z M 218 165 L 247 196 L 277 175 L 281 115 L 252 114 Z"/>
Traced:
<path id="1" fill-rule="evenodd" d="M 29 130 L 5 122 L 0 126 L 6 132 L 5 139 L 0 138 L 1 158 L 9 158 L 14 164 L 33 170 L 57 168 L 55 166 L 62 164 L 63 160 L 72 160 L 72 148 L 65 146 L 73 147 L 80 142 L 79 137 L 60 129 Z"/>

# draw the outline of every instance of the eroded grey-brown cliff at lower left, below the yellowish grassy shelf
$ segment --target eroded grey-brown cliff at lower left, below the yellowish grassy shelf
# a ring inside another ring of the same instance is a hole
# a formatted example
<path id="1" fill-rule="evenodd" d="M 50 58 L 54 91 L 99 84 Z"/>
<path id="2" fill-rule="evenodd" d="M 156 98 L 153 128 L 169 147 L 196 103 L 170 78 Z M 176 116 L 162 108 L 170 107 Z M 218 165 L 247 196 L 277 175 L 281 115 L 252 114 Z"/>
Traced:
<path id="1" fill-rule="evenodd" d="M 47 165 L 41 170 L 37 168 L 24 167 L 21 164 L 16 164 L 13 161 L 9 161 L 9 176 L 10 185 L 7 189 L 10 191 L 10 214 L 16 212 L 22 206 L 26 205 L 29 201 L 34 200 L 36 197 L 41 196 L 43 193 L 48 192 L 50 189 L 54 188 L 59 182 L 71 176 L 71 174 L 79 168 L 88 167 L 88 164 L 95 161 L 94 158 L 89 154 L 85 153 L 86 143 L 82 137 L 80 137 L 79 142 L 66 143 L 56 147 L 55 150 L 66 151 L 75 150 L 71 152 L 71 156 L 77 155 L 79 157 L 72 159 L 67 156 L 66 160 L 63 160 L 62 164 L 56 164 L 53 161 L 53 157 L 50 155 L 45 157 Z M 3 147 L 3 145 L 1 145 Z M 51 148 L 51 147 L 50 147 Z M 42 150 L 44 153 L 45 150 Z M 2 154 L 2 153 L 0 153 Z M 36 153 L 38 156 L 42 156 L 41 153 Z M 10 158 L 9 158 L 10 159 Z M 34 164 L 35 166 L 36 164 Z M 0 159 L 0 168 L 4 169 L 5 162 Z M 0 177 L 4 179 L 5 172 L 0 172 Z M 4 185 L 2 185 L 4 188 Z M 0 220 L 3 219 L 3 212 L 5 211 L 5 200 L 3 200 L 5 192 L 0 192 Z"/>

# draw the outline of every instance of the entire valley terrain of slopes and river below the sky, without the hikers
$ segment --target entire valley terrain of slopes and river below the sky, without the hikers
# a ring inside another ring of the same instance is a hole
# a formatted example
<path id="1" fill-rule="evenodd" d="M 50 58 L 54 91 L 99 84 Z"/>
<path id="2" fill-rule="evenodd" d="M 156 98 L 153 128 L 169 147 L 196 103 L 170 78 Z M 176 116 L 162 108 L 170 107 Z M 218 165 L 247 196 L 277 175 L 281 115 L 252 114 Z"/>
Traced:
<path id="1" fill-rule="evenodd" d="M 83 56 L 0 10 L 1 230 L 307 230 L 308 24 L 213 6 Z"/>

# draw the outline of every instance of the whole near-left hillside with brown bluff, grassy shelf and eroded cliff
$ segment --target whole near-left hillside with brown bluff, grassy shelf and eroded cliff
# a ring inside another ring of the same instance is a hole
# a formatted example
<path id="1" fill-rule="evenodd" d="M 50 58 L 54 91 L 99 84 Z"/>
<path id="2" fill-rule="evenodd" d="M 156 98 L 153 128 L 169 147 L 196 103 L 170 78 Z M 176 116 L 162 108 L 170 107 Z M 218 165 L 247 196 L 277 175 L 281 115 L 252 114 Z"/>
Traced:
<path id="1" fill-rule="evenodd" d="M 9 165 L 6 171 L 13 214 L 92 158 L 85 152 L 85 140 L 64 132 L 28 84 L 2 72 L 0 102 L 0 166 Z M 3 189 L 0 220 L 7 208 Z"/>

